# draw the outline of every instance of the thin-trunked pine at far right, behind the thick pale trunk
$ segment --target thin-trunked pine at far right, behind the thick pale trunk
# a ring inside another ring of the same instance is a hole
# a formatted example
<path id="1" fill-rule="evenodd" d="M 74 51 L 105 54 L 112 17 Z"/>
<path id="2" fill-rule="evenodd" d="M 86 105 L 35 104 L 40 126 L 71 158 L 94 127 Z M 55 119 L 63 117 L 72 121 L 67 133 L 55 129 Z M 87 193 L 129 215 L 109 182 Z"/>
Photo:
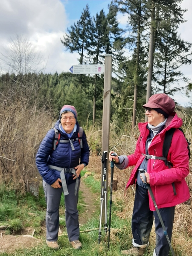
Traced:
<path id="1" fill-rule="evenodd" d="M 180 38 L 177 32 L 178 25 L 174 17 L 169 17 L 164 26 L 157 30 L 156 49 L 154 54 L 153 81 L 157 89 L 163 93 L 172 94 L 183 87 L 171 87 L 175 81 L 187 81 L 179 70 L 183 64 L 192 61 L 192 44 Z"/>

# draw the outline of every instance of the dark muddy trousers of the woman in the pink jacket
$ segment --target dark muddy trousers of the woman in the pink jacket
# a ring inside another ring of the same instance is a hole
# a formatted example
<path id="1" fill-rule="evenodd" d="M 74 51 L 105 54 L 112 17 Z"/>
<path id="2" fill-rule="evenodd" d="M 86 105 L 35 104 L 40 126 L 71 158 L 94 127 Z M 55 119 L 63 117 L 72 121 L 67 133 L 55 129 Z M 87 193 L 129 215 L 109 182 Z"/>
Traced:
<path id="1" fill-rule="evenodd" d="M 171 241 L 175 207 L 160 208 L 159 211 Z M 132 215 L 132 234 L 134 243 L 139 245 L 148 243 L 153 225 L 153 216 L 155 218 L 156 256 L 168 256 L 170 248 L 163 232 L 160 219 L 156 211 L 151 211 L 149 209 L 148 189 L 138 186 L 137 184 Z"/>

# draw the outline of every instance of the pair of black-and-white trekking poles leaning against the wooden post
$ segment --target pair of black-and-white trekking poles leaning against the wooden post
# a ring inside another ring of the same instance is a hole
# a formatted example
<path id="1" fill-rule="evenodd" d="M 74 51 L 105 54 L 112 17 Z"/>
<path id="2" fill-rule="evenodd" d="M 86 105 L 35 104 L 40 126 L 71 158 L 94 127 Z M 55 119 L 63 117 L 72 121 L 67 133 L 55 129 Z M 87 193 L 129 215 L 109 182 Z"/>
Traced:
<path id="1" fill-rule="evenodd" d="M 102 193 L 101 193 L 101 209 L 100 209 L 100 221 L 99 221 L 99 237 L 98 237 L 98 244 L 101 242 L 101 227 L 102 227 L 102 210 L 103 210 L 103 201 L 104 201 L 104 194 L 105 194 L 105 232 L 107 233 L 107 185 L 106 185 L 106 162 L 107 162 L 107 151 L 103 151 L 102 154 L 102 163 L 103 163 L 103 179 L 102 179 Z"/>

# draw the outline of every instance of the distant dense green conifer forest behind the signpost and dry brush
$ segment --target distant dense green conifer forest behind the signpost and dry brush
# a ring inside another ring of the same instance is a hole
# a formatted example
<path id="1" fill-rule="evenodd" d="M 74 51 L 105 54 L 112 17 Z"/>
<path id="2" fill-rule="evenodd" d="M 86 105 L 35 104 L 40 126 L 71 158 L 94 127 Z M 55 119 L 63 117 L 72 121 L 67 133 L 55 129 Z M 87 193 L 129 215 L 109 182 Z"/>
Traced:
<path id="1" fill-rule="evenodd" d="M 81 80 L 83 84 L 79 81 Z M 97 91 L 98 100 L 96 101 L 96 121 L 102 122 L 103 108 L 103 83 L 104 76 L 97 78 L 100 85 Z M 46 109 L 57 119 L 61 107 L 65 104 L 74 105 L 78 111 L 78 121 L 81 125 L 93 124 L 93 84 L 95 78 L 86 75 L 73 75 L 71 73 L 55 74 L 36 74 L 0 76 L 0 90 L 3 95 L 1 103 L 4 108 L 15 106 L 19 102 L 27 109 L 36 110 Z M 113 79 L 111 92 L 111 120 L 119 119 L 121 123 L 131 122 L 132 108 L 129 103 L 127 93 L 122 92 L 123 88 L 119 81 Z M 141 105 L 145 102 L 145 94 L 139 100 Z M 132 104 L 132 102 L 131 102 Z M 140 117 L 143 116 L 140 113 Z M 120 125 L 120 124 L 119 124 Z"/>

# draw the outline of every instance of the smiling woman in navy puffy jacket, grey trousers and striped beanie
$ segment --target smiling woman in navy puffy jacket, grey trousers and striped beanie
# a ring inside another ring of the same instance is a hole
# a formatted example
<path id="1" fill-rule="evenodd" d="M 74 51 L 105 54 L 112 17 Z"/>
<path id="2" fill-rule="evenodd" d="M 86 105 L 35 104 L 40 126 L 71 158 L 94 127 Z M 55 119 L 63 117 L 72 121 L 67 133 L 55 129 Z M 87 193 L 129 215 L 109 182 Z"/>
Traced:
<path id="1" fill-rule="evenodd" d="M 36 165 L 43 177 L 47 202 L 47 245 L 58 249 L 59 205 L 65 197 L 67 234 L 74 249 L 80 249 L 77 209 L 81 170 L 89 162 L 87 138 L 77 122 L 74 106 L 64 105 L 55 127 L 49 130 L 36 155 Z"/>

